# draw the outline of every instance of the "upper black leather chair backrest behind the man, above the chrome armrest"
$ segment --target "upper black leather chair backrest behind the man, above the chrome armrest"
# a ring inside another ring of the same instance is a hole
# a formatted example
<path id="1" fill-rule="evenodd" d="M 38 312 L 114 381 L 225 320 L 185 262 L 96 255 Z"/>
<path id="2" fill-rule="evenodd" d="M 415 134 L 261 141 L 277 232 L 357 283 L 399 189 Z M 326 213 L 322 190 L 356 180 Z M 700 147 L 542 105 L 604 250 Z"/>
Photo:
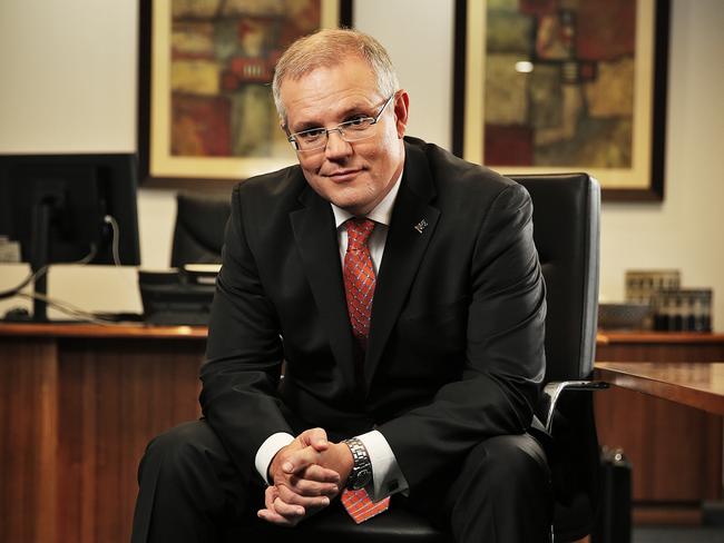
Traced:
<path id="1" fill-rule="evenodd" d="M 586 174 L 509 176 L 532 198 L 546 279 L 546 381 L 590 377 L 598 313 L 600 188 Z"/>

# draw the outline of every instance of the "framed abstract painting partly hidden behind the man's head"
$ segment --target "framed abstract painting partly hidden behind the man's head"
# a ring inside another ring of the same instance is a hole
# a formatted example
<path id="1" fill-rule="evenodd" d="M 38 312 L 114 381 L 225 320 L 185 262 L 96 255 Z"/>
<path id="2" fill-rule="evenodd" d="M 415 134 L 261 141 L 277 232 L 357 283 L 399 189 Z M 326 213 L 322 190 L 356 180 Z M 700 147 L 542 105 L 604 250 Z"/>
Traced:
<path id="1" fill-rule="evenodd" d="M 197 187 L 296 161 L 271 81 L 296 38 L 351 26 L 351 0 L 140 0 L 140 182 Z"/>

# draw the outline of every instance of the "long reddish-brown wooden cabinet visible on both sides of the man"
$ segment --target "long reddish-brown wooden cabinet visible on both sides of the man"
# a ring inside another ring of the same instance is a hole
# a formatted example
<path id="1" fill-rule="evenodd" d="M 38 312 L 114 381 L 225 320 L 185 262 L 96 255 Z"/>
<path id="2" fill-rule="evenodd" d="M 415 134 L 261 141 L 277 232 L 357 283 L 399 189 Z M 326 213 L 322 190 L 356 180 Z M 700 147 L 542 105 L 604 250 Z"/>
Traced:
<path id="1" fill-rule="evenodd" d="M 205 343 L 205 328 L 0 324 L 0 541 L 128 541 L 146 444 L 199 415 Z M 724 336 L 601 334 L 597 358 L 724 361 Z M 720 417 L 622 389 L 596 409 L 639 503 L 721 497 Z"/>

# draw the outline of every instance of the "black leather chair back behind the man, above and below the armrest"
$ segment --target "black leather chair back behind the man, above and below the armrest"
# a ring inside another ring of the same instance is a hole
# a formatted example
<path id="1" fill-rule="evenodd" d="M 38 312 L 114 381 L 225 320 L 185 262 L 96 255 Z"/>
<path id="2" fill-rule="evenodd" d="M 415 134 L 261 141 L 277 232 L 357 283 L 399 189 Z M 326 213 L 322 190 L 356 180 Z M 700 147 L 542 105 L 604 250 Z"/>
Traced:
<path id="1" fill-rule="evenodd" d="M 600 188 L 586 174 L 510 176 L 534 205 L 534 239 L 546 279 L 546 381 L 590 378 L 598 313 Z M 557 404 L 551 470 L 556 541 L 591 533 L 599 507 L 599 452 L 590 392 Z"/>

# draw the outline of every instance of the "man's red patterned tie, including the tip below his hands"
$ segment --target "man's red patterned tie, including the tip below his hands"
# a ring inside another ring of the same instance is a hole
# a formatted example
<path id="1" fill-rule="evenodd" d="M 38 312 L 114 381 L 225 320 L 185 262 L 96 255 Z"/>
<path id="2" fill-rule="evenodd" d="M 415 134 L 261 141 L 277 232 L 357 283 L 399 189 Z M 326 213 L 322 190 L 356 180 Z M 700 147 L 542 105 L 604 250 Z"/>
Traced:
<path id="1" fill-rule="evenodd" d="M 374 296 L 374 266 L 368 240 L 374 229 L 370 219 L 350 219 L 346 223 L 348 247 L 344 255 L 344 292 L 346 308 L 352 325 L 352 334 L 358 340 L 362 354 L 366 352 L 370 336 L 370 317 L 372 315 L 372 297 Z M 361 357 L 364 359 L 364 356 Z M 370 500 L 364 488 L 342 492 L 342 504 L 350 516 L 360 524 L 374 515 L 387 511 L 390 497 L 379 502 Z"/>

